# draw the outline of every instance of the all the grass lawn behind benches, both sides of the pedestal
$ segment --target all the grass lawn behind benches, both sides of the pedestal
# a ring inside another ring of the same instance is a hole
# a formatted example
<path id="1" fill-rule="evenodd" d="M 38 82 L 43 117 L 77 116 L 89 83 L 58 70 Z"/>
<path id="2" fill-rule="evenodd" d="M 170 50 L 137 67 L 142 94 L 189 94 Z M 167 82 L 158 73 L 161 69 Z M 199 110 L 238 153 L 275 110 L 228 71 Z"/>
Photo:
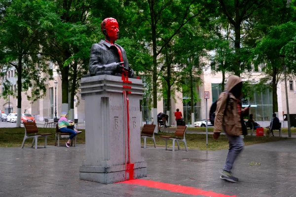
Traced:
<path id="1" fill-rule="evenodd" d="M 204 129 L 204 128 L 199 128 Z M 20 147 L 22 145 L 22 141 L 25 134 L 24 128 L 0 128 L 0 147 Z M 47 138 L 48 145 L 54 145 L 55 140 L 55 129 L 51 128 L 38 128 L 40 133 L 52 133 L 51 136 Z M 81 130 L 82 133 L 77 135 L 77 143 L 84 144 L 85 143 L 85 131 Z M 202 130 L 201 130 L 202 131 Z M 170 135 L 173 136 L 173 133 L 160 133 L 161 135 Z M 159 135 L 155 136 L 156 138 L 156 146 L 165 146 L 165 140 L 160 138 Z M 32 144 L 32 139 L 27 139 L 25 142 L 25 146 L 30 146 Z M 245 136 L 245 144 L 258 144 L 258 143 L 265 143 L 265 142 L 272 142 L 272 141 L 279 141 L 279 140 L 287 140 L 287 138 L 281 137 L 256 137 L 256 136 Z M 66 138 L 62 138 L 60 140 L 60 144 L 64 146 L 65 142 L 67 141 Z M 189 149 L 200 149 L 200 150 L 220 150 L 220 149 L 227 149 L 228 148 L 228 141 L 224 135 L 221 135 L 218 140 L 214 140 L 212 135 L 209 135 L 209 146 L 206 147 L 206 135 L 205 134 L 186 134 L 186 141 L 187 146 Z M 144 141 L 142 139 L 142 144 Z M 38 145 L 44 145 L 44 138 L 38 138 Z M 147 145 L 153 145 L 151 139 L 147 139 Z M 172 140 L 168 140 L 168 146 L 172 147 Z M 175 146 L 177 148 L 177 144 Z M 185 149 L 184 143 L 180 142 L 180 148 Z"/>

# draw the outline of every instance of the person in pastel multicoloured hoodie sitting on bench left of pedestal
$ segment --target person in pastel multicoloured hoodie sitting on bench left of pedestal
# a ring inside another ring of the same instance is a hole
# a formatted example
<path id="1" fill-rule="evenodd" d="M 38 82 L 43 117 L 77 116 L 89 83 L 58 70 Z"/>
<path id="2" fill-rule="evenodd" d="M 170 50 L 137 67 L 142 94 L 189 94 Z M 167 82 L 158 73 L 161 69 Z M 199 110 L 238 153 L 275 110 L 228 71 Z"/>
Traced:
<path id="1" fill-rule="evenodd" d="M 71 121 L 69 123 L 68 120 L 67 120 L 67 118 L 68 118 L 68 113 L 62 112 L 61 118 L 58 121 L 58 126 L 59 126 L 59 131 L 66 132 L 66 133 L 69 133 L 70 134 L 70 137 L 69 137 L 68 141 L 66 142 L 66 146 L 68 148 L 70 148 L 70 142 L 71 142 L 71 140 L 75 137 L 75 135 L 77 133 L 81 133 L 81 131 L 77 131 L 74 128 L 74 122 Z"/>

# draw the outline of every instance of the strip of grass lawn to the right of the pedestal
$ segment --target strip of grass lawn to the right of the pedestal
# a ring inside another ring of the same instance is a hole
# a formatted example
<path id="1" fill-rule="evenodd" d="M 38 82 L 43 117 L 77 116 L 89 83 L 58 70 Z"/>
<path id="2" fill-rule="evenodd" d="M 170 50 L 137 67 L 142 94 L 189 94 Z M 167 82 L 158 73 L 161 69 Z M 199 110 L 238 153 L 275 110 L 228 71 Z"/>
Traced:
<path id="1" fill-rule="evenodd" d="M 173 133 L 163 133 L 159 132 L 160 135 L 173 136 Z M 156 147 L 163 146 L 165 147 L 165 140 L 160 137 L 160 135 L 155 135 Z M 199 149 L 199 150 L 221 150 L 228 149 L 228 140 L 225 135 L 220 135 L 218 140 L 214 140 L 212 135 L 208 136 L 208 148 L 206 147 L 206 135 L 205 134 L 186 134 L 187 147 L 189 149 Z M 286 137 L 265 137 L 265 136 L 244 136 L 245 145 L 260 144 L 266 142 L 274 142 L 281 140 L 288 140 Z M 153 146 L 153 141 L 150 138 L 147 138 L 147 145 Z M 185 150 L 185 145 L 183 142 L 179 142 L 180 149 Z M 142 139 L 142 145 L 144 145 L 144 140 Z M 172 147 L 172 140 L 168 140 L 168 147 Z M 177 143 L 175 144 L 175 149 L 178 149 Z"/>

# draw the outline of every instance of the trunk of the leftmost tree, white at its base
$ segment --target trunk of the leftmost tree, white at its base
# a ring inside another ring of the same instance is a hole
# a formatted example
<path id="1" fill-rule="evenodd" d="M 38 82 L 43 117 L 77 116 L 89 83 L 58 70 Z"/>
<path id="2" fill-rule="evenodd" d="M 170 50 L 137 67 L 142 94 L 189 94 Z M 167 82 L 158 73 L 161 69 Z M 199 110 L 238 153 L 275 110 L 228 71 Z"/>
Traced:
<path id="1" fill-rule="evenodd" d="M 17 65 L 17 121 L 16 127 L 21 127 L 21 110 L 22 110 L 22 67 L 23 55 L 19 55 Z"/>

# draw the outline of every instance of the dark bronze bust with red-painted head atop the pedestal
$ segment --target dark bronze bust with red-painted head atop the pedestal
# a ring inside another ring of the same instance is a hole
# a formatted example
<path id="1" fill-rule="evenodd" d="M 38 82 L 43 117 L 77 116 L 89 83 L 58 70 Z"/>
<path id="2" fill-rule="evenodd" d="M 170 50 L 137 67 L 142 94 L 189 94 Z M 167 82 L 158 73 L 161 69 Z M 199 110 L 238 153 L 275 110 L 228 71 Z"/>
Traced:
<path id="1" fill-rule="evenodd" d="M 118 23 L 114 18 L 106 18 L 101 24 L 105 40 L 93 44 L 90 51 L 90 76 L 116 73 L 134 77 L 134 71 L 129 67 L 126 52 L 115 40 L 118 39 Z"/>

